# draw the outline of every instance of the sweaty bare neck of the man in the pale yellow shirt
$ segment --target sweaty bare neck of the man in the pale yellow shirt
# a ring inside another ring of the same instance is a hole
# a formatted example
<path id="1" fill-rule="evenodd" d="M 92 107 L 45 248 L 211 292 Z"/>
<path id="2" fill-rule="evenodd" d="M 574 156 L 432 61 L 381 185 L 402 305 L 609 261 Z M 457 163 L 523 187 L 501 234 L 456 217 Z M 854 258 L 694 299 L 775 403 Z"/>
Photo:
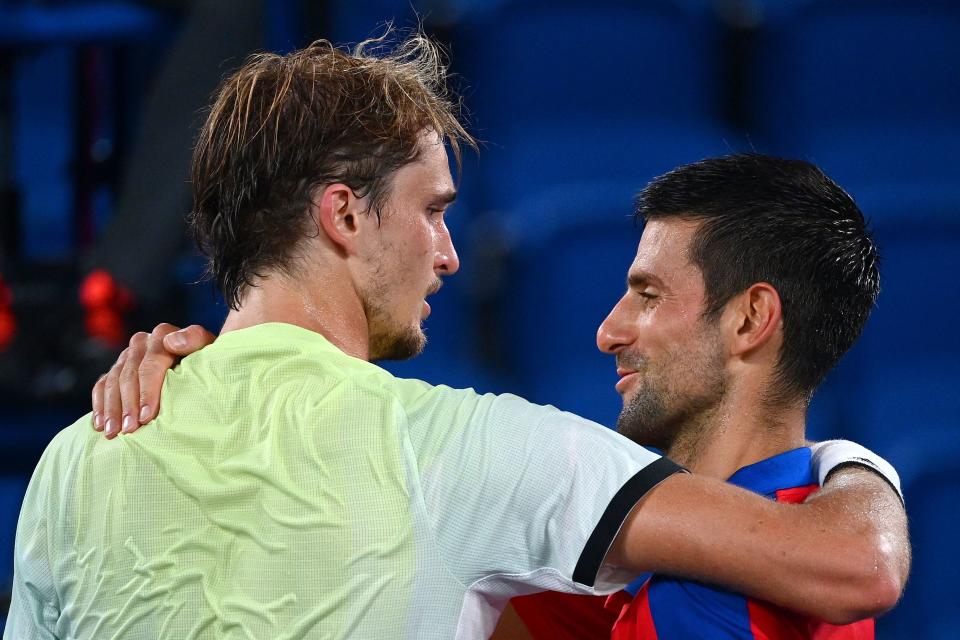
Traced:
<path id="1" fill-rule="evenodd" d="M 324 280 L 336 282 L 338 278 Z M 301 281 L 316 282 L 312 278 Z M 319 333 L 347 355 L 370 359 L 366 312 L 352 289 L 330 286 L 318 292 L 280 273 L 264 276 L 255 285 L 244 292 L 240 308 L 227 314 L 221 334 L 284 322 Z"/>

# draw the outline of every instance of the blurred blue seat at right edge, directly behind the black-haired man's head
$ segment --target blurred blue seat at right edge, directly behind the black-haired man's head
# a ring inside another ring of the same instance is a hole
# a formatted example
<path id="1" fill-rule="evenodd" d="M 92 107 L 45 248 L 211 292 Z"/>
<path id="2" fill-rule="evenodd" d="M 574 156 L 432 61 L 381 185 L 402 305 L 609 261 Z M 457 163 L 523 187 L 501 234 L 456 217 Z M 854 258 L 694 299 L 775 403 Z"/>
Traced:
<path id="1" fill-rule="evenodd" d="M 854 195 L 880 246 L 881 292 L 848 356 L 843 421 L 886 451 L 919 424 L 960 424 L 960 190 L 880 185 Z"/>

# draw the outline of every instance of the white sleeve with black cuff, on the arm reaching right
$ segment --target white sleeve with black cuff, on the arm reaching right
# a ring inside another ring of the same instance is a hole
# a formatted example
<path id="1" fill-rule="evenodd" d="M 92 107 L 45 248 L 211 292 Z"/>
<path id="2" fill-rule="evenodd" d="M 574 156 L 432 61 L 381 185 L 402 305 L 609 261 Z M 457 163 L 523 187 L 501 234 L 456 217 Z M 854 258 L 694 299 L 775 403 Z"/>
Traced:
<path id="1" fill-rule="evenodd" d="M 452 392 L 451 392 L 452 393 Z M 424 504 L 451 572 L 509 597 L 609 593 L 603 565 L 631 509 L 680 470 L 613 431 L 511 395 L 448 398 L 414 417 Z M 428 411 L 429 413 L 429 411 Z"/>

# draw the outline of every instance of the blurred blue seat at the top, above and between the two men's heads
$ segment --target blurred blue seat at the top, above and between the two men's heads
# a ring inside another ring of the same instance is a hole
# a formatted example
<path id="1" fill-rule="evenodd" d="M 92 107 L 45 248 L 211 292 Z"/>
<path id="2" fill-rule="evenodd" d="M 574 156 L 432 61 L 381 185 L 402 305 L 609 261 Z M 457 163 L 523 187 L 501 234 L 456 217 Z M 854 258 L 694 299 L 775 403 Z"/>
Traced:
<path id="1" fill-rule="evenodd" d="M 729 151 L 719 27 L 704 5 L 502 2 L 456 45 L 481 158 L 480 210 L 569 181 L 646 179 Z M 693 156 L 693 157 L 691 157 Z"/>

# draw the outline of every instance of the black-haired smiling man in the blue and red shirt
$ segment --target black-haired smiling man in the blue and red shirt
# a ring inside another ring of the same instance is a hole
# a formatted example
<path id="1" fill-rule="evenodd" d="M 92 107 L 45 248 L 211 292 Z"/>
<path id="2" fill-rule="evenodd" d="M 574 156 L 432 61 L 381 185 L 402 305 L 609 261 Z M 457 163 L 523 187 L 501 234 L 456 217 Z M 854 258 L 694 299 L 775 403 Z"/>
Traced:
<path id="1" fill-rule="evenodd" d="M 807 405 L 879 291 L 863 215 L 807 162 L 735 155 L 653 180 L 637 217 L 627 293 L 597 332 L 621 376 L 617 430 L 695 473 L 802 502 L 818 488 Z M 513 602 L 544 640 L 611 628 L 615 640 L 873 637 L 872 620 L 833 627 L 659 574 L 606 606 L 565 594 Z"/>

